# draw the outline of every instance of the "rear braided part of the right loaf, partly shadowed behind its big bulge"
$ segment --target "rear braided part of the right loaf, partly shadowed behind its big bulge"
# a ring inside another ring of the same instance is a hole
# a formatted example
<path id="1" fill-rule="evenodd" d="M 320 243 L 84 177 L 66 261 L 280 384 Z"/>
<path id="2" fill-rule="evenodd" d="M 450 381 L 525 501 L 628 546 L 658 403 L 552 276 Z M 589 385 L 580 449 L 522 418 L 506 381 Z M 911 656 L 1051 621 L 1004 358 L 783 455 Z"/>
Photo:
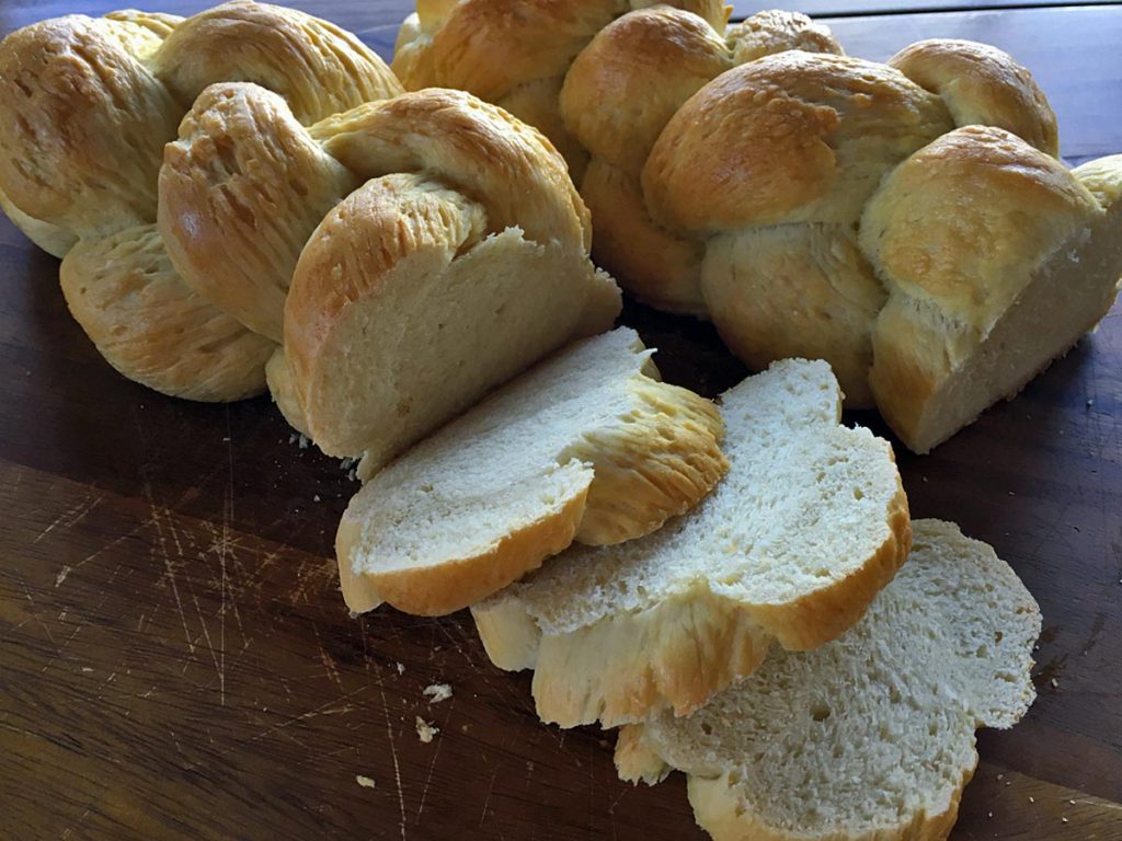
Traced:
<path id="1" fill-rule="evenodd" d="M 764 11 L 726 29 L 720 2 L 646 6 L 419 3 L 393 66 L 408 90 L 461 87 L 545 132 L 592 211 L 597 264 L 624 272 L 649 303 L 701 315 L 700 243 L 655 224 L 644 206 L 640 175 L 651 147 L 682 103 L 730 67 L 842 47 L 803 15 Z"/>

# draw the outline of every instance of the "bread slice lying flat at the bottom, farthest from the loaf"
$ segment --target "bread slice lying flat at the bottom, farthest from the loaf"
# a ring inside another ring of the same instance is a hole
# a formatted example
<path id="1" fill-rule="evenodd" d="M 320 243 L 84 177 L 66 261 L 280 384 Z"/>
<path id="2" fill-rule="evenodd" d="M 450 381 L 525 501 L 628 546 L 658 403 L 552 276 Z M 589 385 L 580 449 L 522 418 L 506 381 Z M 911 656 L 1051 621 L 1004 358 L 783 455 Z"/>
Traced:
<path id="1" fill-rule="evenodd" d="M 683 719 L 625 728 L 625 779 L 689 775 L 717 841 L 946 838 L 977 763 L 974 731 L 1032 703 L 1040 611 L 984 543 L 917 520 L 908 564 L 864 620 L 779 653 Z"/>

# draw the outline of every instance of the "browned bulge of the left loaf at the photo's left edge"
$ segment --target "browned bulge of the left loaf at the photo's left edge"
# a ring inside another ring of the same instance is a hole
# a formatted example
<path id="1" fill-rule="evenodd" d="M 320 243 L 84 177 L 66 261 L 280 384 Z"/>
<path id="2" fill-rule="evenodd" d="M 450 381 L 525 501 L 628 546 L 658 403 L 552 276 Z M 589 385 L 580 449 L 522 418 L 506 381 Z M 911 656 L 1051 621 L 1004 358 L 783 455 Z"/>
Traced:
<path id="1" fill-rule="evenodd" d="M 77 235 L 156 220 L 156 174 L 181 110 L 140 56 L 159 38 L 74 15 L 0 41 L 0 190 Z"/>

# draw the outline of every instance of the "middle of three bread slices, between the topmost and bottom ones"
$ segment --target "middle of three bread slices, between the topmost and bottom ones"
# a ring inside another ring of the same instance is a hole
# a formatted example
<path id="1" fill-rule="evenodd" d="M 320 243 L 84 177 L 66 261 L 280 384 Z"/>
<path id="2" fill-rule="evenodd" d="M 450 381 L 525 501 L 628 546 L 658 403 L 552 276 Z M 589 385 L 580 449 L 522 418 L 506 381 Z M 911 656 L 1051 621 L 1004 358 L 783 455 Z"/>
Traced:
<path id="1" fill-rule="evenodd" d="M 697 709 L 773 640 L 806 649 L 846 630 L 911 532 L 891 447 L 839 426 L 840 405 L 825 362 L 776 362 L 730 389 L 714 493 L 642 540 L 570 551 L 475 606 L 491 660 L 535 669 L 544 720 L 611 727 Z"/>

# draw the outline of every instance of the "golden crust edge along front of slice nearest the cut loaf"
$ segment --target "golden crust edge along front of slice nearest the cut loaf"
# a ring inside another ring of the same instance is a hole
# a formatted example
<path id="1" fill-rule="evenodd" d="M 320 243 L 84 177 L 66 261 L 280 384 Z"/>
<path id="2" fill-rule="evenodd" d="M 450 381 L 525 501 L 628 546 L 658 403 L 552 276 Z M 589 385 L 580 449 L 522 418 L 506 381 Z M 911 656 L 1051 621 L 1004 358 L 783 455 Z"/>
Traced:
<path id="1" fill-rule="evenodd" d="M 552 516 L 512 532 L 480 555 L 397 572 L 356 574 L 350 569 L 361 524 L 344 514 L 335 535 L 343 599 L 356 612 L 387 602 L 419 616 L 444 616 L 473 604 L 571 544 L 585 511 L 586 493 L 587 488 L 564 500 Z"/>

